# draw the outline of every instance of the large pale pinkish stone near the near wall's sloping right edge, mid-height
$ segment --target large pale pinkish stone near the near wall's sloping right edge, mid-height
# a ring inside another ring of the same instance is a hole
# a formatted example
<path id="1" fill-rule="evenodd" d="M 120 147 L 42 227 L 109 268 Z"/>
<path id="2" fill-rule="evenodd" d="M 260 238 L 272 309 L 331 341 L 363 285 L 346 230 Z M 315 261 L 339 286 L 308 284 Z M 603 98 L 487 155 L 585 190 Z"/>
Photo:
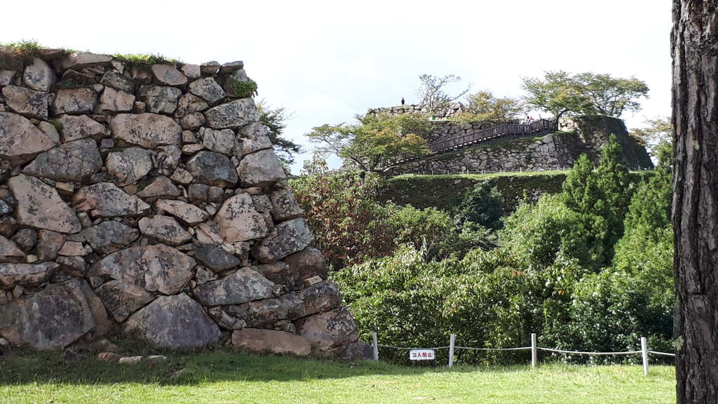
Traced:
<path id="1" fill-rule="evenodd" d="M 225 242 L 243 242 L 265 237 L 269 231 L 264 218 L 254 210 L 252 198 L 241 193 L 228 198 L 215 216 Z"/>

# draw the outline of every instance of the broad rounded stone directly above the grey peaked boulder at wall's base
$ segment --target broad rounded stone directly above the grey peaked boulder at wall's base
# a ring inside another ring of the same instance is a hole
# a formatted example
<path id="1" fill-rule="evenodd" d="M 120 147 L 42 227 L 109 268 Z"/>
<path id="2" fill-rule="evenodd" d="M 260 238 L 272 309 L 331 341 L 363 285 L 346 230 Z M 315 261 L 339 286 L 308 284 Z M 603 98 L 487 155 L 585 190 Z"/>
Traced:
<path id="1" fill-rule="evenodd" d="M 150 292 L 173 295 L 192 279 L 196 263 L 187 254 L 164 244 L 137 246 L 95 262 L 90 267 L 90 276 L 111 277 Z"/>

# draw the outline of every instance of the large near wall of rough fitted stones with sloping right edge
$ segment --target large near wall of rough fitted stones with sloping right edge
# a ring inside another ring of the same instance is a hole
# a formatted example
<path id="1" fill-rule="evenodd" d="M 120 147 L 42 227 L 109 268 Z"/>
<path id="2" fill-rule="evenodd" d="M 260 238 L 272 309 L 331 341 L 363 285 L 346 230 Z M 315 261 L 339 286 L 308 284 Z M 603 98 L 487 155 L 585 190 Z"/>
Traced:
<path id="1" fill-rule="evenodd" d="M 0 341 L 365 348 L 243 63 L 36 56 L 0 66 Z"/>

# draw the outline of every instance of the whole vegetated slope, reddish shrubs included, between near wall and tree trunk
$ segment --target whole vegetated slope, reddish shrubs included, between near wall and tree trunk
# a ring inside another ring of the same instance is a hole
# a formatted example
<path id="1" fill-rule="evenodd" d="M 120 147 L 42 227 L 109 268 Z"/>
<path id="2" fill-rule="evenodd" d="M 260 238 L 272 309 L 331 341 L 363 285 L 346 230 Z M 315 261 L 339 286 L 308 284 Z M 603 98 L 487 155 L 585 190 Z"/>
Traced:
<path id="1" fill-rule="evenodd" d="M 567 173 L 394 178 L 381 197 L 381 179 L 321 165 L 290 186 L 365 341 L 376 331 L 387 345 L 444 346 L 457 334 L 462 346 L 508 348 L 536 333 L 541 346 L 621 352 L 646 336 L 652 350 L 672 352 L 670 150 L 653 175 L 629 173 L 621 153 L 612 139 L 600 165 L 582 156 Z M 511 364 L 527 355 L 456 359 Z"/>

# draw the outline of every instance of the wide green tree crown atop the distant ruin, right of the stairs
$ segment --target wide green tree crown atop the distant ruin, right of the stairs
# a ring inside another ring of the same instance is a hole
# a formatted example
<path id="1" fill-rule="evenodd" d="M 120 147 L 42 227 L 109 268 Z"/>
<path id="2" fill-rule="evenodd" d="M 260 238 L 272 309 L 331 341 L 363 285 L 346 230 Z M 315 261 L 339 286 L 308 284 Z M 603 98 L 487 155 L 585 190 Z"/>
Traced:
<path id="1" fill-rule="evenodd" d="M 564 115 L 602 114 L 619 117 L 624 111 L 640 111 L 639 98 L 648 98 L 648 86 L 635 77 L 549 70 L 543 78 L 523 77 L 526 104 L 547 111 L 556 119 Z"/>

